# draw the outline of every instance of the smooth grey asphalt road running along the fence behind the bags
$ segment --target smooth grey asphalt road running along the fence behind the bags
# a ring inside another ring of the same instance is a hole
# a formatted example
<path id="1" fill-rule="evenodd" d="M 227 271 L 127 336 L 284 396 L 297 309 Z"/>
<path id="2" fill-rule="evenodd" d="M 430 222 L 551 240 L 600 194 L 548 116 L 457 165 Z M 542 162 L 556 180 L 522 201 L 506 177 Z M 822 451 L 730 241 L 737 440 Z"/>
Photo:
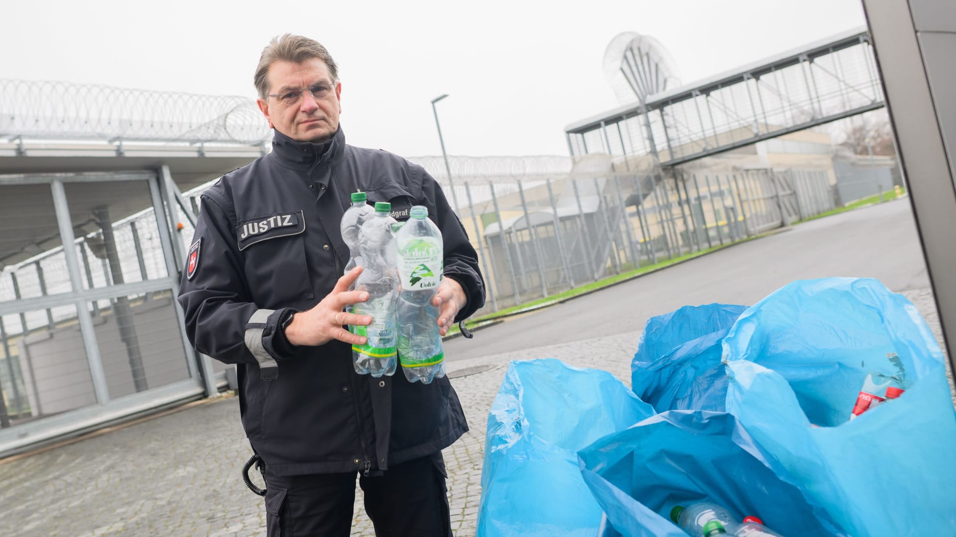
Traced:
<path id="1" fill-rule="evenodd" d="M 626 333 L 685 305 L 750 305 L 798 279 L 878 278 L 889 289 L 929 287 L 906 199 L 793 226 L 613 288 L 447 342 L 451 360 Z"/>

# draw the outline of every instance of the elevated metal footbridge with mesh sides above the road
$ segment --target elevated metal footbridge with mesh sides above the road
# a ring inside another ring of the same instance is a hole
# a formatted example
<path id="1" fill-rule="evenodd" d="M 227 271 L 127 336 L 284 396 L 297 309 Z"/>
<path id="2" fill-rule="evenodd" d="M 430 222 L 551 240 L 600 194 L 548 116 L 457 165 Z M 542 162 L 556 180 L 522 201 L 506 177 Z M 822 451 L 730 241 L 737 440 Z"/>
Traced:
<path id="1" fill-rule="evenodd" d="M 650 155 L 663 166 L 882 108 L 869 34 L 844 32 L 565 128 L 577 157 Z"/>

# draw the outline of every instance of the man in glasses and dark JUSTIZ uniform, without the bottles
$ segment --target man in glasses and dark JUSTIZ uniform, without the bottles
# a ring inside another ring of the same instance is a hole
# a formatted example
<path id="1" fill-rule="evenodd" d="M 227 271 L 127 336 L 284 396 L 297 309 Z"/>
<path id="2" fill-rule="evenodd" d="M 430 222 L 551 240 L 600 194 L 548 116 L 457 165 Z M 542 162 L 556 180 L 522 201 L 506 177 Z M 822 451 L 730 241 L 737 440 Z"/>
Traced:
<path id="1" fill-rule="evenodd" d="M 339 221 L 358 189 L 404 215 L 428 207 L 442 230 L 434 303 L 444 335 L 485 301 L 464 227 L 421 166 L 345 144 L 341 83 L 319 43 L 283 35 L 255 73 L 272 152 L 202 196 L 180 288 L 189 340 L 237 364 L 243 426 L 266 464 L 269 535 L 348 535 L 356 475 L 378 535 L 451 535 L 441 450 L 467 431 L 445 377 L 359 376 L 345 311 L 367 300 L 343 274 Z"/>

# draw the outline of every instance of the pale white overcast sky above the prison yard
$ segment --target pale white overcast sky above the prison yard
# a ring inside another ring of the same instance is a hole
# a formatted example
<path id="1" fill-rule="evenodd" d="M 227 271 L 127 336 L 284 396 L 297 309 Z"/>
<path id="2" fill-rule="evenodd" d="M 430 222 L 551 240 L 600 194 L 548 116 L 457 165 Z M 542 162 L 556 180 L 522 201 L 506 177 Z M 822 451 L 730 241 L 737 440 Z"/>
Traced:
<path id="1" fill-rule="evenodd" d="M 657 38 L 684 83 L 865 24 L 859 0 L 2 3 L 0 77 L 255 97 L 276 34 L 322 42 L 355 145 L 440 155 L 567 155 L 563 129 L 618 105 L 604 49 Z"/>

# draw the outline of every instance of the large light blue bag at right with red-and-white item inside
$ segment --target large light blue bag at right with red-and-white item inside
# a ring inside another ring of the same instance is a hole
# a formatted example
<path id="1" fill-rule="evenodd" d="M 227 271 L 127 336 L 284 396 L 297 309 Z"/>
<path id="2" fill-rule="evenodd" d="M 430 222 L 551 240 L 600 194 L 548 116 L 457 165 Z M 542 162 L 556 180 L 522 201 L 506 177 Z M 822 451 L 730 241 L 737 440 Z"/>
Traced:
<path id="1" fill-rule="evenodd" d="M 872 279 L 794 282 L 724 340 L 727 408 L 852 535 L 956 535 L 956 413 L 919 311 Z M 905 393 L 849 420 L 868 374 Z"/>

